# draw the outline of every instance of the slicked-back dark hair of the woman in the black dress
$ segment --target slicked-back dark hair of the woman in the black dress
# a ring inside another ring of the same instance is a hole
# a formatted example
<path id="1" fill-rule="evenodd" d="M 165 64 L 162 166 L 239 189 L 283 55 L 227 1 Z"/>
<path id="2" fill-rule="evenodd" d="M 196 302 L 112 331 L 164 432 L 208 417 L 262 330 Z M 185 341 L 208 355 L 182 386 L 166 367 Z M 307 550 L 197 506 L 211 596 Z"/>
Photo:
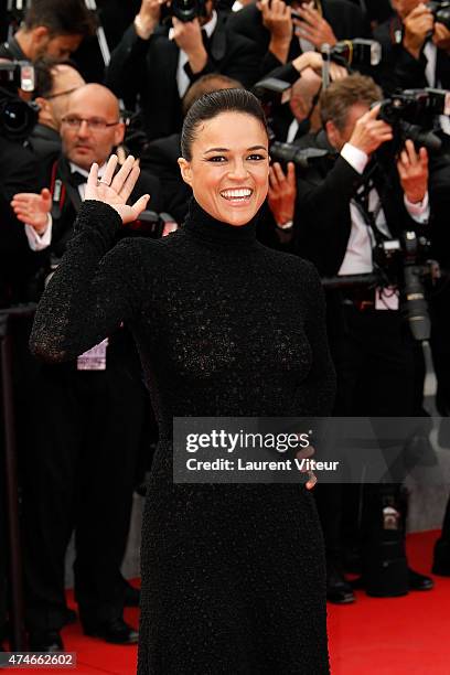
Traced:
<path id="1" fill-rule="evenodd" d="M 254 94 L 247 89 L 219 89 L 204 94 L 189 109 L 181 132 L 181 154 L 188 161 L 192 159 L 192 143 L 195 132 L 203 121 L 214 119 L 222 113 L 242 113 L 257 119 L 268 135 L 267 120 L 262 106 Z"/>

